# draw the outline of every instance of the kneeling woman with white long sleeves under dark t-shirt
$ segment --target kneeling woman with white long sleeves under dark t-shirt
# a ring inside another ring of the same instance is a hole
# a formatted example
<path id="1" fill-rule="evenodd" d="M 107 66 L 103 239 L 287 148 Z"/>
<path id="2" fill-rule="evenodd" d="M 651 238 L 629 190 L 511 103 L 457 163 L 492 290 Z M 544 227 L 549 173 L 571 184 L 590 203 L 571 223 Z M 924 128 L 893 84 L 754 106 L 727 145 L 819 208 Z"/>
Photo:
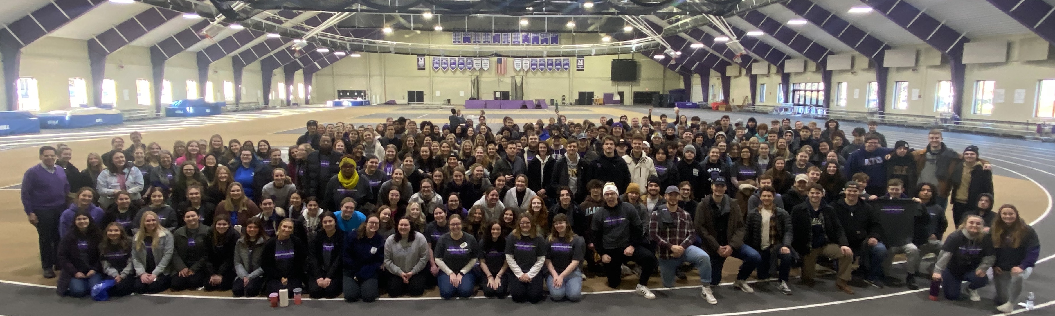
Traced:
<path id="1" fill-rule="evenodd" d="M 538 234 L 532 216 L 528 212 L 517 218 L 517 228 L 505 240 L 505 261 L 516 280 L 510 282 L 513 301 L 537 303 L 542 300 L 545 265 L 545 240 Z"/>

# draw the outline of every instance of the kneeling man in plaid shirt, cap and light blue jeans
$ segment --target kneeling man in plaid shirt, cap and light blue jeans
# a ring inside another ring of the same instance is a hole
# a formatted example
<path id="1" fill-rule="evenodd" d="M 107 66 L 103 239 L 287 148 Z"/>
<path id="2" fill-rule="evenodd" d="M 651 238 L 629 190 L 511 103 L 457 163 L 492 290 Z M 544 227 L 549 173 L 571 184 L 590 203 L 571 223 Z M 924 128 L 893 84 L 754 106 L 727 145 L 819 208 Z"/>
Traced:
<path id="1" fill-rule="evenodd" d="M 676 186 L 668 186 L 666 203 L 656 205 L 649 217 L 649 238 L 656 244 L 659 256 L 659 276 L 665 287 L 674 286 L 674 276 L 682 262 L 693 263 L 699 269 L 699 295 L 707 302 L 716 304 L 711 289 L 711 258 L 707 252 L 692 245 L 696 231 L 692 216 L 677 206 L 680 194 Z"/>

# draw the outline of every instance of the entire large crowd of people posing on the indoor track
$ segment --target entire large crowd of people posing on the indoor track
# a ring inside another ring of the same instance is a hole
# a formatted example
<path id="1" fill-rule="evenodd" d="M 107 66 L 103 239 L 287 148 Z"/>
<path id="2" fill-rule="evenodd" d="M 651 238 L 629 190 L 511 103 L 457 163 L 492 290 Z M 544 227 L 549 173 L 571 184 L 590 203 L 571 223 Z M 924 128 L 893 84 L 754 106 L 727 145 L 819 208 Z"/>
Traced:
<path id="1" fill-rule="evenodd" d="M 798 286 L 813 286 L 824 259 L 845 293 L 922 278 L 934 300 L 939 287 L 959 299 L 966 281 L 977 301 L 992 271 L 997 309 L 1010 312 L 1039 256 L 1018 209 L 994 209 L 979 148 L 957 153 L 940 130 L 913 150 L 888 148 L 875 122 L 847 136 L 835 119 L 557 114 L 504 117 L 497 130 L 482 111 L 474 122 L 452 110 L 442 125 L 309 120 L 288 160 L 264 140 L 217 134 L 170 151 L 133 132 L 79 170 L 73 148 L 44 146 L 22 203 L 43 276 L 58 271 L 58 294 L 73 297 L 112 280 L 115 297 L 302 287 L 373 301 L 435 286 L 445 299 L 578 301 L 587 278 L 616 287 L 636 275 L 651 299 L 656 269 L 670 287 L 695 268 L 713 304 L 732 257 L 745 293 L 791 295 L 797 266 Z M 907 262 L 896 272 L 898 254 Z"/>

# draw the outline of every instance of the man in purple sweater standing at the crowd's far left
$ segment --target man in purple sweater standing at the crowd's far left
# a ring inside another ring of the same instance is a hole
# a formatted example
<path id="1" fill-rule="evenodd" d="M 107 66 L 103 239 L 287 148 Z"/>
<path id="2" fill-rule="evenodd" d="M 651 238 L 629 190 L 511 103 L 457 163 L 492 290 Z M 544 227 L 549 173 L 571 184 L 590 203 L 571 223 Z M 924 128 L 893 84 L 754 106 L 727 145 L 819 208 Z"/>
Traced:
<path id="1" fill-rule="evenodd" d="M 58 264 L 59 217 L 66 208 L 70 182 L 65 171 L 55 164 L 55 147 L 40 147 L 40 164 L 30 167 L 22 175 L 22 207 L 30 224 L 37 227 L 40 240 L 40 266 L 44 278 L 55 277 Z"/>

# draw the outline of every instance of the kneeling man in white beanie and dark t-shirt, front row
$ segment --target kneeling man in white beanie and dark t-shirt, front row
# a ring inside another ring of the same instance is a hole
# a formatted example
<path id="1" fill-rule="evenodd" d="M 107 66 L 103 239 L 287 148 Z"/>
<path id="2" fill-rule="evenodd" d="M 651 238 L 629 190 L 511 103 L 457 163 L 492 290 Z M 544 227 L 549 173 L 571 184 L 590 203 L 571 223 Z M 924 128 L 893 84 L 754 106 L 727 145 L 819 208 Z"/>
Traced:
<path id="1" fill-rule="evenodd" d="M 606 151 L 611 138 L 605 140 Z M 621 161 L 621 160 L 620 160 Z M 601 255 L 605 274 L 610 287 L 618 287 L 622 281 L 621 266 L 634 261 L 641 267 L 636 292 L 648 299 L 656 296 L 649 290 L 649 278 L 656 268 L 656 257 L 647 248 L 649 241 L 641 229 L 641 219 L 630 203 L 619 202 L 619 189 L 615 183 L 606 183 L 601 189 L 605 204 L 593 215 L 590 224 L 593 230 L 594 249 Z"/>

